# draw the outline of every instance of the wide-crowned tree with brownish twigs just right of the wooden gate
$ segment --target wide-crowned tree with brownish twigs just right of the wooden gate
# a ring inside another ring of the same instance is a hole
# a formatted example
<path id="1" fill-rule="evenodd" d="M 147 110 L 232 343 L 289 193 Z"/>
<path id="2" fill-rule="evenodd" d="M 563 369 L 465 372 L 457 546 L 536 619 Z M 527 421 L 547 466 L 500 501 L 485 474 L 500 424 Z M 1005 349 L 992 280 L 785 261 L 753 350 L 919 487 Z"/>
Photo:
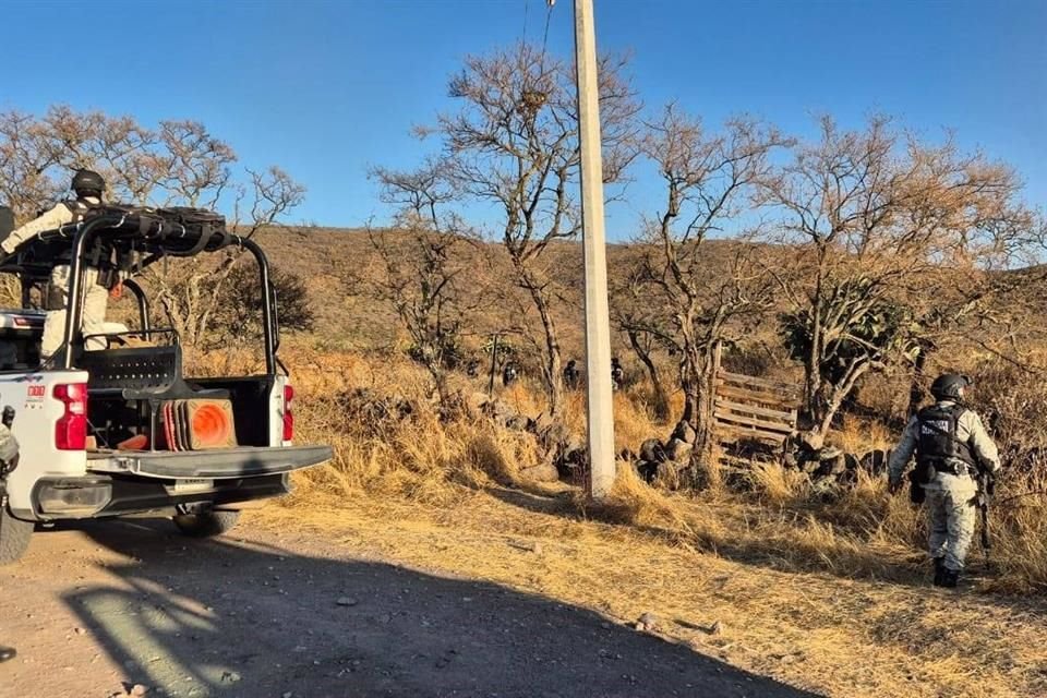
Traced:
<path id="1" fill-rule="evenodd" d="M 905 348 L 888 317 L 900 300 L 942 266 L 990 265 L 1028 222 L 1013 171 L 961 153 L 951 137 L 931 146 L 882 117 L 861 131 L 823 118 L 819 136 L 763 188 L 782 214 L 777 241 L 796 252 L 794 269 L 775 277 L 805 338 L 816 447 L 857 381 Z"/>

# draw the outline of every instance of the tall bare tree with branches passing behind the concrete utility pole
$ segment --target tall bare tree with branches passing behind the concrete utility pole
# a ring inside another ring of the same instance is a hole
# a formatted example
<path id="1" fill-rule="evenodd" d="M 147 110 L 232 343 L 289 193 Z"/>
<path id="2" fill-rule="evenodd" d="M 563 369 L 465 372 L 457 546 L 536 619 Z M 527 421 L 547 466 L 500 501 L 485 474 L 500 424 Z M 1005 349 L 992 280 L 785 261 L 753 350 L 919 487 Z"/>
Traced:
<path id="1" fill-rule="evenodd" d="M 633 157 L 638 105 L 623 79 L 624 63 L 600 64 L 604 179 L 614 181 Z M 571 67 L 543 50 L 518 45 L 469 57 L 450 80 L 460 105 L 432 129 L 456 198 L 497 212 L 495 236 L 508 253 L 515 281 L 529 297 L 542 327 L 542 381 L 550 412 L 563 410 L 559 335 L 554 321 L 555 279 L 543 253 L 573 238 L 579 217 L 573 196 L 579 165 L 578 115 Z"/>

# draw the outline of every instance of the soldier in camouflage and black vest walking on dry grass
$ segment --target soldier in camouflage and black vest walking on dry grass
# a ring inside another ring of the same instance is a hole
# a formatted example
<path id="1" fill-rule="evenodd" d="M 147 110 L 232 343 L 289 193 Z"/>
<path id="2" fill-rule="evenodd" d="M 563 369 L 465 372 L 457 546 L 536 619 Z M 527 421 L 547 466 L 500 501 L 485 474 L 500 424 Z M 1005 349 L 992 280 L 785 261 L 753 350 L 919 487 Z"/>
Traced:
<path id="1" fill-rule="evenodd" d="M 970 384 L 953 373 L 939 376 L 930 387 L 935 405 L 908 421 L 889 465 L 890 489 L 896 492 L 916 454 L 910 478 L 926 498 L 936 587 L 955 587 L 963 569 L 974 538 L 975 477 L 979 470 L 995 474 L 1000 469 L 996 444 L 977 413 L 963 406 Z"/>

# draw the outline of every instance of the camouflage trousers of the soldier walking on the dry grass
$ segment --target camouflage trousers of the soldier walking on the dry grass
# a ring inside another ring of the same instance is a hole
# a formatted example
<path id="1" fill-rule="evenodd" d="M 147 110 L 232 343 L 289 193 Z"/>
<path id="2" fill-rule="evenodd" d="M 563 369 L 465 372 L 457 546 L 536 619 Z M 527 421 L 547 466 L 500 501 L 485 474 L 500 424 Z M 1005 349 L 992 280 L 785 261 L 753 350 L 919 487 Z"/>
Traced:
<path id="1" fill-rule="evenodd" d="M 924 485 L 927 497 L 931 557 L 942 557 L 949 569 L 963 569 L 963 561 L 974 539 L 977 509 L 974 497 L 978 485 L 971 476 L 939 472 Z"/>

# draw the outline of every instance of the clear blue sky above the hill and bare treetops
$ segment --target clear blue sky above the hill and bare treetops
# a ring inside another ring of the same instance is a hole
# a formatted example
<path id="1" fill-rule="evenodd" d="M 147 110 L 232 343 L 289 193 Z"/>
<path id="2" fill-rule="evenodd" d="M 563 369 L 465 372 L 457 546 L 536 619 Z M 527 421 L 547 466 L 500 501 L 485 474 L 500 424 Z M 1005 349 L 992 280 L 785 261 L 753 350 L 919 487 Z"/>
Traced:
<path id="1" fill-rule="evenodd" d="M 549 50 L 573 50 L 571 2 Z M 630 50 L 655 108 L 676 99 L 714 123 L 737 112 L 811 132 L 811 116 L 858 125 L 899 117 L 928 137 L 1014 165 L 1047 203 L 1047 1 L 595 0 L 598 46 Z M 296 218 L 356 226 L 385 212 L 369 166 L 410 167 L 413 124 L 449 107 L 467 53 L 540 36 L 544 0 L 8 2 L 0 109 L 203 121 L 244 164 L 276 164 L 309 188 Z M 85 38 L 80 43 L 76 36 Z M 627 237 L 658 206 L 641 179 L 609 209 Z"/>

